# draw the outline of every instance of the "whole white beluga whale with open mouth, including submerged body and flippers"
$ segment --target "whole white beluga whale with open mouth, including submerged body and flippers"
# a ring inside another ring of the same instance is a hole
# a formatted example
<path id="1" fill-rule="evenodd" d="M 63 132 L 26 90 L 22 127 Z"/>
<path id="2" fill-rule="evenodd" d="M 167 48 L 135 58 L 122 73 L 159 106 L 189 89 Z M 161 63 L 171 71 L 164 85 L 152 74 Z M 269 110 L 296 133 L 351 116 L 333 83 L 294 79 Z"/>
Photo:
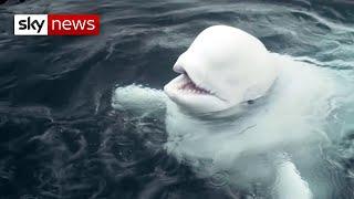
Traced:
<path id="1" fill-rule="evenodd" d="M 250 191 L 260 184 L 271 198 L 316 195 L 295 163 L 315 165 L 301 165 L 299 157 L 311 159 L 302 149 L 329 142 L 323 126 L 336 85 L 326 70 L 272 53 L 228 25 L 201 31 L 173 70 L 179 75 L 164 91 L 117 87 L 113 107 L 164 116 L 164 148 L 199 177 L 227 174 L 229 186 Z"/>

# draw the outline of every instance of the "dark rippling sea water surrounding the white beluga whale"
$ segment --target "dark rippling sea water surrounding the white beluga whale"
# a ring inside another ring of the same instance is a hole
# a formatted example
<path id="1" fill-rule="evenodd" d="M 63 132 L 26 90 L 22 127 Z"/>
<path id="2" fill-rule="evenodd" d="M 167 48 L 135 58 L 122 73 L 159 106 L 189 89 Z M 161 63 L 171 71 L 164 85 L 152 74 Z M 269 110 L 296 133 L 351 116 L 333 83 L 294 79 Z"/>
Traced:
<path id="1" fill-rule="evenodd" d="M 98 13 L 101 34 L 13 35 L 13 14 L 49 12 Z M 225 174 L 196 177 L 164 150 L 163 121 L 112 107 L 116 86 L 162 88 L 178 55 L 214 24 L 354 81 L 351 0 L 9 0 L 0 6 L 0 199 L 264 198 L 223 189 Z M 351 199 L 354 106 L 337 115 L 330 198 Z"/>

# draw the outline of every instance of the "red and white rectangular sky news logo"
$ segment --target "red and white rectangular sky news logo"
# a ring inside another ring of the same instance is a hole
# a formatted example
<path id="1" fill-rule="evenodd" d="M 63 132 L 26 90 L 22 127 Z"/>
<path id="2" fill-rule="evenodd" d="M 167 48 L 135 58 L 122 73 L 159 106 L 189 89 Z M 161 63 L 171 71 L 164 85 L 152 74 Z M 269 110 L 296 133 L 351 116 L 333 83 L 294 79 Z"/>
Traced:
<path id="1" fill-rule="evenodd" d="M 14 35 L 98 35 L 97 14 L 14 14 Z"/>

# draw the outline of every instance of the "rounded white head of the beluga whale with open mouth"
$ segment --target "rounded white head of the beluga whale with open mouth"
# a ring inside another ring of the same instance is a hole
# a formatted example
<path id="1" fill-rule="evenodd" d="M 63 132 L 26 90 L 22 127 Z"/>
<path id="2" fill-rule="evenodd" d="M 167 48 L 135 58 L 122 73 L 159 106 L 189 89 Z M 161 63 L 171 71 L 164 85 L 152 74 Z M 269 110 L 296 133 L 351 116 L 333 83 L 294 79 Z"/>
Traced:
<path id="1" fill-rule="evenodd" d="M 176 61 L 164 91 L 196 114 L 225 112 L 267 94 L 277 67 L 261 41 L 227 25 L 207 28 Z"/>

